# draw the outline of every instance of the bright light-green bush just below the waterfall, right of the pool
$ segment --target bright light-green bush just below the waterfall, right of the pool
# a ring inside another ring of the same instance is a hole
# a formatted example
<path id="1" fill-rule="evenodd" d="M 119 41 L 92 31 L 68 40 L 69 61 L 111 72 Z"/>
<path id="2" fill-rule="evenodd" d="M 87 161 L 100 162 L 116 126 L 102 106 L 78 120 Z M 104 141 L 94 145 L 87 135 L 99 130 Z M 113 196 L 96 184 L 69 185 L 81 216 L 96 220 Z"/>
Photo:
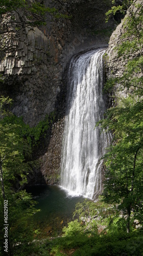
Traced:
<path id="1" fill-rule="evenodd" d="M 117 225 L 119 218 L 117 206 L 105 203 L 101 196 L 96 203 L 86 199 L 83 203 L 78 203 L 74 217 L 77 215 L 85 224 L 84 232 L 92 236 L 98 233 L 99 228 L 103 230 L 102 233 L 109 233 L 113 229 L 120 230 Z"/>

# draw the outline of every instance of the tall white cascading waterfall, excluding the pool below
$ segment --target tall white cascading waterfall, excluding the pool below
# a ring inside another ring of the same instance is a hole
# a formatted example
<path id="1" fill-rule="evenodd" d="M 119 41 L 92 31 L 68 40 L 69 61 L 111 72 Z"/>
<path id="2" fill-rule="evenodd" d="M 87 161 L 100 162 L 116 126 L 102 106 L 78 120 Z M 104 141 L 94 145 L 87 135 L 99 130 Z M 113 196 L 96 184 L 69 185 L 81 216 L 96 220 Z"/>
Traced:
<path id="1" fill-rule="evenodd" d="M 68 72 L 68 96 L 60 185 L 74 194 L 95 198 L 102 189 L 101 167 L 108 135 L 94 126 L 103 118 L 103 54 L 94 49 L 76 55 Z"/>

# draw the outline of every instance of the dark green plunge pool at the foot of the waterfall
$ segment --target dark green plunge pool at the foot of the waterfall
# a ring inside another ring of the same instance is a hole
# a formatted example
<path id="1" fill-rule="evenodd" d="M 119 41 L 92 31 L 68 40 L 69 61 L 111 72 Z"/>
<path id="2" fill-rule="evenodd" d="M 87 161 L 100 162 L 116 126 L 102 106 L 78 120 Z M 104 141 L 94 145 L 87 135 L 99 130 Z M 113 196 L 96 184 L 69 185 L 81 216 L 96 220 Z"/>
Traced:
<path id="1" fill-rule="evenodd" d="M 58 185 L 33 185 L 26 188 L 41 209 L 32 218 L 38 237 L 56 237 L 62 234 L 62 228 L 73 221 L 73 212 L 83 196 L 69 196 L 68 192 Z"/>

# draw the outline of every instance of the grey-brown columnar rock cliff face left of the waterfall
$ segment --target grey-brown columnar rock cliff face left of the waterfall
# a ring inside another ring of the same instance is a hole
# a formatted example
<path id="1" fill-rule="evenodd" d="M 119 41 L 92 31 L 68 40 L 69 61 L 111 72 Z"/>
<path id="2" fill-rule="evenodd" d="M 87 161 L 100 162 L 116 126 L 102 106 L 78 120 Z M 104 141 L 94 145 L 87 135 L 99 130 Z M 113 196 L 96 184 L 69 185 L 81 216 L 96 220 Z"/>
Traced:
<path id="1" fill-rule="evenodd" d="M 56 109 L 57 122 L 42 146 L 41 170 L 47 182 L 54 183 L 59 172 L 64 127 L 66 70 L 71 56 L 91 47 L 108 44 L 114 21 L 105 24 L 107 0 L 46 0 L 45 6 L 71 16 L 27 27 L 1 36 L 0 93 L 14 100 L 13 113 L 31 126 Z M 13 13 L 20 20 L 24 13 Z M 10 15 L 4 15 L 1 28 Z M 48 17 L 47 17 L 48 18 Z M 45 152 L 46 151 L 46 152 Z"/>

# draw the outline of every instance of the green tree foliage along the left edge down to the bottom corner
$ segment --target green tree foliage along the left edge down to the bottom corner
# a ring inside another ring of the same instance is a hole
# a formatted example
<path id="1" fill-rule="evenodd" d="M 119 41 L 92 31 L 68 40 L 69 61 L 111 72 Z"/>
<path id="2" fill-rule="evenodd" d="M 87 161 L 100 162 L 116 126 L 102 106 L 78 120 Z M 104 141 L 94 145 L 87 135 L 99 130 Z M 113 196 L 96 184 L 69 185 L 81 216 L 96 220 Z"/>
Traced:
<path id="1" fill-rule="evenodd" d="M 11 255 L 18 256 L 29 255 L 34 246 L 34 226 L 29 218 L 38 210 L 22 188 L 36 163 L 31 160 L 31 145 L 23 136 L 25 126 L 9 110 L 11 102 L 9 98 L 0 99 L 0 252 L 4 254 L 4 200 L 8 200 L 8 248 Z"/>

